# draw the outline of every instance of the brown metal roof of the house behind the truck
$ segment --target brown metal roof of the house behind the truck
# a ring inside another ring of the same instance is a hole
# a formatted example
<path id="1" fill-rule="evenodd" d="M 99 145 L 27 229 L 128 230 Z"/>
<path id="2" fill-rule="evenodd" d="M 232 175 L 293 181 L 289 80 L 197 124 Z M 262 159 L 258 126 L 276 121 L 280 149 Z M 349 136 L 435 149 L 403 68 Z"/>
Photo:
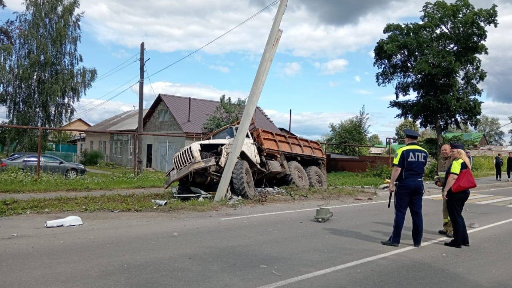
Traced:
<path id="1" fill-rule="evenodd" d="M 169 108 L 170 113 L 176 118 L 182 131 L 192 134 L 207 133 L 203 126 L 208 120 L 208 117 L 215 113 L 215 109 L 220 104 L 219 101 L 159 94 L 158 98 L 151 106 L 150 112 L 147 113 L 147 117 L 144 118 L 144 123 L 155 113 L 160 101 L 163 101 L 167 108 Z M 190 121 L 188 121 L 189 104 Z M 282 134 L 260 107 L 256 109 L 254 116 L 258 128 Z"/>

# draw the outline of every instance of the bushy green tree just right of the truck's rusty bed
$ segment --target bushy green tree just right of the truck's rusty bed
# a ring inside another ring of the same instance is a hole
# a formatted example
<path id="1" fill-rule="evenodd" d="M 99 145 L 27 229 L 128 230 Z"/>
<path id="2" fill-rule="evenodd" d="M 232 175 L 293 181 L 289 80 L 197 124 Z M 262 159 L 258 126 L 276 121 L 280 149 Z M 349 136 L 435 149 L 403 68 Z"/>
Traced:
<path id="1" fill-rule="evenodd" d="M 370 134 L 370 125 L 368 125 L 368 121 L 370 118 L 368 115 L 365 106 L 363 106 L 359 111 L 359 115 L 342 121 L 338 125 L 331 123 L 329 125 L 331 134 L 327 142 L 348 145 L 369 145 L 368 135 Z M 367 155 L 369 153 L 368 148 L 334 145 L 327 146 L 327 151 L 348 156 Z"/>

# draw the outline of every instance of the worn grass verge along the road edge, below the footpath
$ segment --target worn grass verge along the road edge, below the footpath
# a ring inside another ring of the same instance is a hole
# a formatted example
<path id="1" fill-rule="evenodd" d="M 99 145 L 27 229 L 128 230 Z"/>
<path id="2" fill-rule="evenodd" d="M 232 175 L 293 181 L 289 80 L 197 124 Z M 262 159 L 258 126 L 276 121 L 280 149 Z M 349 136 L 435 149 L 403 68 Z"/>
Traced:
<path id="1" fill-rule="evenodd" d="M 286 195 L 259 195 L 254 200 L 240 200 L 238 203 L 229 204 L 227 200 L 214 202 L 213 199 L 204 201 L 190 200 L 179 201 L 170 200 L 170 192 L 165 193 L 147 193 L 130 195 L 103 195 L 103 196 L 84 196 L 84 197 L 66 197 L 59 196 L 55 198 L 42 198 L 30 200 L 17 200 L 14 198 L 0 200 L 0 217 L 23 215 L 23 214 L 51 214 L 65 212 L 175 212 L 191 211 L 206 212 L 215 211 L 226 207 L 237 207 L 240 205 L 256 205 L 267 202 L 290 202 L 304 199 L 339 199 L 343 197 L 353 197 L 360 191 L 348 188 L 331 188 L 329 190 L 297 190 L 288 189 Z M 162 207 L 156 207 L 151 200 L 167 199 L 168 204 Z"/>

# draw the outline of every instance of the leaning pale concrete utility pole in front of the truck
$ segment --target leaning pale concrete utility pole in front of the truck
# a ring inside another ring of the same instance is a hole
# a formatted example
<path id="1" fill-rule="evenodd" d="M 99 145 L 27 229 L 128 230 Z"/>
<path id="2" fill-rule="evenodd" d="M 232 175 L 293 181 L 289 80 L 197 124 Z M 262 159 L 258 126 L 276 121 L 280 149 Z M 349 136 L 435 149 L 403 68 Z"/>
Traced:
<path id="1" fill-rule="evenodd" d="M 279 44 L 278 36 L 281 35 L 279 32 L 279 27 L 281 26 L 281 20 L 283 19 L 287 4 L 288 0 L 281 0 L 278 12 L 275 15 L 274 23 L 272 25 L 272 29 L 270 30 L 270 35 L 268 36 L 267 45 L 265 46 L 265 51 L 263 52 L 263 56 L 260 61 L 260 67 L 258 68 L 258 73 L 254 78 L 254 83 L 252 84 L 252 89 L 249 94 L 249 98 L 247 99 L 247 104 L 245 106 L 244 114 L 242 115 L 242 120 L 240 121 L 237 136 L 234 137 L 233 146 L 231 147 L 231 152 L 229 153 L 226 167 L 222 173 L 221 182 L 219 183 L 219 188 L 217 189 L 217 194 L 215 195 L 216 202 L 219 202 L 224 199 L 224 197 L 226 197 L 226 192 L 229 188 L 229 183 L 231 182 L 234 165 L 237 163 L 240 152 L 242 151 L 245 136 L 249 132 L 252 116 L 254 115 L 254 111 L 258 106 L 258 101 L 260 100 L 261 92 L 263 90 L 263 86 L 265 85 L 268 71 L 270 70 L 271 61 Z"/>

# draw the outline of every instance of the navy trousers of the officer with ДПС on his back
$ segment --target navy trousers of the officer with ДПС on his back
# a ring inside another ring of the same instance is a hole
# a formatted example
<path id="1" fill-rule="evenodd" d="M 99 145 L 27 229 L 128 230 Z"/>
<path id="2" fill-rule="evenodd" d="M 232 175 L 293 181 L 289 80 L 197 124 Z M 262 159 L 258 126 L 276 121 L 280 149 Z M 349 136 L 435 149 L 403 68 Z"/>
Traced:
<path id="1" fill-rule="evenodd" d="M 389 241 L 400 244 L 403 222 L 406 220 L 407 209 L 413 218 L 413 241 L 421 244 L 423 239 L 423 181 L 400 182 L 395 189 L 395 222 L 393 234 Z"/>

